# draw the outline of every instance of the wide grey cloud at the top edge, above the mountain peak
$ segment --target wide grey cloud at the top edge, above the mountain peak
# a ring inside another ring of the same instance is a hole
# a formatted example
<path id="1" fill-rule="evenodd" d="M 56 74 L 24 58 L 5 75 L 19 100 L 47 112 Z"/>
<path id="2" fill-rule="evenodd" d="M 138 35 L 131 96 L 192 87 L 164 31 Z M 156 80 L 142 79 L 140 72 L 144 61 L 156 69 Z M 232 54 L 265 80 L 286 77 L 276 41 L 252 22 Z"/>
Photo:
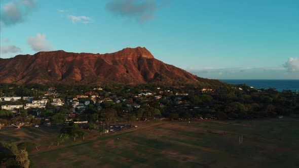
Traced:
<path id="1" fill-rule="evenodd" d="M 163 8 L 168 1 L 158 5 L 155 0 L 111 0 L 106 4 L 106 9 L 129 20 L 145 22 L 155 19 L 155 12 Z"/>

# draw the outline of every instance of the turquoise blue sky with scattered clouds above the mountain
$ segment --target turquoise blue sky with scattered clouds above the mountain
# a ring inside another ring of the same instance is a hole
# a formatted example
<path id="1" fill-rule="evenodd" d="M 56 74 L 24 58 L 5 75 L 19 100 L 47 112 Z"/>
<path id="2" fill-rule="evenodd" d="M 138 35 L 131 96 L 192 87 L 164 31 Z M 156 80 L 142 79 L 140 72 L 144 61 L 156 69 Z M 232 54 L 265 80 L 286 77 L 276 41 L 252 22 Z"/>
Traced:
<path id="1" fill-rule="evenodd" d="M 201 77 L 299 79 L 296 0 L 1 0 L 1 58 L 146 47 Z"/>

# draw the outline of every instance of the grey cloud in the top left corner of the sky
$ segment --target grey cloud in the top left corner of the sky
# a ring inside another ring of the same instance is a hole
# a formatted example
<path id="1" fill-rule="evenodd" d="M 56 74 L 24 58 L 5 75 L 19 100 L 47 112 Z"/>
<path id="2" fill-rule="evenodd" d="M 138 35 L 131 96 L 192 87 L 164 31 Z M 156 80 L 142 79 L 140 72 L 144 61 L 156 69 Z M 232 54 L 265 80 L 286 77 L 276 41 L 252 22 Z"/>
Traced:
<path id="1" fill-rule="evenodd" d="M 11 26 L 25 21 L 27 15 L 35 9 L 35 0 L 9 1 L 1 8 L 0 22 L 2 26 Z"/>

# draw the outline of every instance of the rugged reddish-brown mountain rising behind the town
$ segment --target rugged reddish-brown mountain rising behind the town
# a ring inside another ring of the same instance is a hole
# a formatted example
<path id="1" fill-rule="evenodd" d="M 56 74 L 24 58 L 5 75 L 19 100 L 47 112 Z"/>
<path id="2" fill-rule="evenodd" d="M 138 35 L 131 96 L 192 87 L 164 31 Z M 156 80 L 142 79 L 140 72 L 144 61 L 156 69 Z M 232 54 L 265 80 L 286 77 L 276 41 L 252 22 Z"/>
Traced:
<path id="1" fill-rule="evenodd" d="M 126 48 L 116 53 L 69 53 L 62 50 L 17 55 L 0 59 L 0 83 L 100 84 L 201 83 L 218 80 L 200 78 L 154 58 L 145 48 Z"/>

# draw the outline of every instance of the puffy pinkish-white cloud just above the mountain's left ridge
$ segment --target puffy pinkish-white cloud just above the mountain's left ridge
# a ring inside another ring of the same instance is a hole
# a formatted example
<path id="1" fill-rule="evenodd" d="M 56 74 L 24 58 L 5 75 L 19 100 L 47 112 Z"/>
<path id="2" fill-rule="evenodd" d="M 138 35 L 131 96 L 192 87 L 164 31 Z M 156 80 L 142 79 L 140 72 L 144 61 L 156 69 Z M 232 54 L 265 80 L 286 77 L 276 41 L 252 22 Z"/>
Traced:
<path id="1" fill-rule="evenodd" d="M 35 52 L 53 50 L 50 41 L 46 40 L 45 34 L 37 33 L 36 37 L 28 37 L 27 43 Z"/>

